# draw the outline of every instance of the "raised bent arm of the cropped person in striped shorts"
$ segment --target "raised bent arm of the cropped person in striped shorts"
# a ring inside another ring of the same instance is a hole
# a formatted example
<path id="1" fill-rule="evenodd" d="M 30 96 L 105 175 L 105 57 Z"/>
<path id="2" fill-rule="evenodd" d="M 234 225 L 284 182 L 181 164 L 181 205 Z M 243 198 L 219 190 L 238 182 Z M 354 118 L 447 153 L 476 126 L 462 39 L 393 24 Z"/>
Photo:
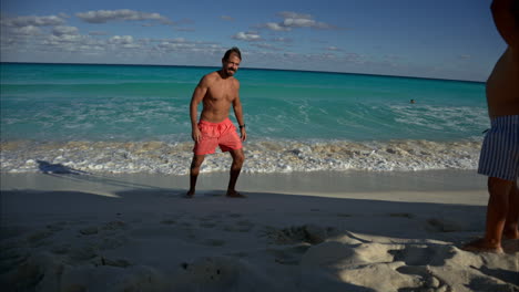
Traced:
<path id="1" fill-rule="evenodd" d="M 490 6 L 493 23 L 511 48 L 519 46 L 519 3 L 517 0 L 493 0 Z"/>

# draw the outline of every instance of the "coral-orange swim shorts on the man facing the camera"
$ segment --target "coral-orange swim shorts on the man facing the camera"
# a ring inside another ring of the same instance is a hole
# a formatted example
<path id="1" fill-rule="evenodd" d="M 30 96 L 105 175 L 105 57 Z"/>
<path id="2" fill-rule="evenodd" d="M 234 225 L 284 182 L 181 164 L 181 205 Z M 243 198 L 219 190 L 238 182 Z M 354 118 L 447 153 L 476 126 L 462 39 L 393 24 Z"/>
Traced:
<path id="1" fill-rule="evenodd" d="M 228 117 L 221 123 L 200 121 L 199 129 L 202 133 L 202 137 L 199 143 L 195 143 L 193 148 L 195 155 L 213 154 L 216 150 L 216 146 L 220 146 L 222 152 L 237 150 L 243 147 L 242 139 L 236 133 L 236 127 Z"/>

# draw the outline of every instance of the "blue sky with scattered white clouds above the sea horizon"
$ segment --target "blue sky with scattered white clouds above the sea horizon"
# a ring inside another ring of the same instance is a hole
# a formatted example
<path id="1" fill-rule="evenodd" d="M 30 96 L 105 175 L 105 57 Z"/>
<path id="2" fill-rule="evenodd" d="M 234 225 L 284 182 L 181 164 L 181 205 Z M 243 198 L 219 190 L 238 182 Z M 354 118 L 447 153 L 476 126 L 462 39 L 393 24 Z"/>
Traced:
<path id="1" fill-rule="evenodd" d="M 2 0 L 2 62 L 220 66 L 485 81 L 487 0 Z"/>

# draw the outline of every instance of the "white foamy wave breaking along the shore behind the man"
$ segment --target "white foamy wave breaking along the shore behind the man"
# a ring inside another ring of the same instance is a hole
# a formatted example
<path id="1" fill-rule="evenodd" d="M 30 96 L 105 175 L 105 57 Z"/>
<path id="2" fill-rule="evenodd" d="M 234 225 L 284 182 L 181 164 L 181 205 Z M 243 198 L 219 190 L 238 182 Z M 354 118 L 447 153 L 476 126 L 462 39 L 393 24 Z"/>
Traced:
<path id="1" fill-rule="evenodd" d="M 476 169 L 480 142 L 297 142 L 245 144 L 244 173 L 317 170 L 410 171 Z M 192 143 L 2 142 L 2 173 L 113 173 L 186 175 Z M 228 171 L 228 154 L 208 155 L 202 173 Z"/>

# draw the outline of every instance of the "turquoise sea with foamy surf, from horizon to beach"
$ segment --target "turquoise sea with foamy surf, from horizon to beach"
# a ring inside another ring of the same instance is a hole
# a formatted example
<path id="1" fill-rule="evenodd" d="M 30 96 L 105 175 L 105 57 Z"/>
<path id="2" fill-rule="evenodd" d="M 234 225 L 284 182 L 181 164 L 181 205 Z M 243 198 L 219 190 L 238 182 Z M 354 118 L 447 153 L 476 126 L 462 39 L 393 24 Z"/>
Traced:
<path id="1" fill-rule="evenodd" d="M 215 70 L 1 63 L 1 171 L 44 163 L 186 174 L 189 103 Z M 489 127 L 484 83 L 260 69 L 236 77 L 245 171 L 474 169 Z M 203 171 L 227 168 L 216 154 Z"/>

